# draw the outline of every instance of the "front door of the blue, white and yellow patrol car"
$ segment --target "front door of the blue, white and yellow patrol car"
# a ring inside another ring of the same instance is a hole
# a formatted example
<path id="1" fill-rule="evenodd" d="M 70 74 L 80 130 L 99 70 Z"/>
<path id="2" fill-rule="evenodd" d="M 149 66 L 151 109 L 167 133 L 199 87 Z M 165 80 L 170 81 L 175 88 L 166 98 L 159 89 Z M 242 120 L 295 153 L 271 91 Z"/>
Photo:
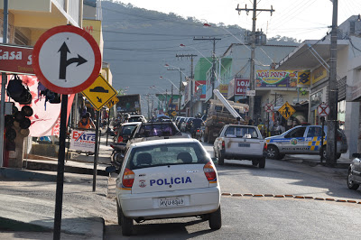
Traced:
<path id="1" fill-rule="evenodd" d="M 288 153 L 302 153 L 304 151 L 304 134 L 306 132 L 306 126 L 299 126 L 292 129 L 290 132 L 284 135 L 284 139 L 281 143 L 281 152 Z"/>

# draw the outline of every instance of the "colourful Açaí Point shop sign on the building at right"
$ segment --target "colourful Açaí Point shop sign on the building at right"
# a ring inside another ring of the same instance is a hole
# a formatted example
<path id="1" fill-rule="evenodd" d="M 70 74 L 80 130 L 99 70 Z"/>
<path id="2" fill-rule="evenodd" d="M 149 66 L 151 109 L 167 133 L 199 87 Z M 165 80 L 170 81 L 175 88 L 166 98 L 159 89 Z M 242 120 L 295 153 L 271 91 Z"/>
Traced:
<path id="1" fill-rule="evenodd" d="M 255 88 L 296 88 L 297 71 L 257 70 Z"/>

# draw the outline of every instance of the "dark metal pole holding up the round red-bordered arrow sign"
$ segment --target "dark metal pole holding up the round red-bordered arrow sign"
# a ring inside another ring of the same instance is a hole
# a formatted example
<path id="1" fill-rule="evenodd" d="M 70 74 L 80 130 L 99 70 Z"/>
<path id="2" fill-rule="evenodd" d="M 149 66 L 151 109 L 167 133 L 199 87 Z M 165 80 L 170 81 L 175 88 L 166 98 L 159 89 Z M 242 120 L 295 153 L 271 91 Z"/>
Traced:
<path id="1" fill-rule="evenodd" d="M 55 219 L 53 239 L 60 240 L 61 231 L 61 210 L 62 210 L 62 194 L 64 187 L 64 158 L 65 158 L 65 138 L 67 128 L 67 109 L 68 95 L 63 94 L 61 97 L 60 112 L 60 135 L 59 135 L 59 154 L 58 154 L 58 173 L 57 188 L 55 197 Z"/>

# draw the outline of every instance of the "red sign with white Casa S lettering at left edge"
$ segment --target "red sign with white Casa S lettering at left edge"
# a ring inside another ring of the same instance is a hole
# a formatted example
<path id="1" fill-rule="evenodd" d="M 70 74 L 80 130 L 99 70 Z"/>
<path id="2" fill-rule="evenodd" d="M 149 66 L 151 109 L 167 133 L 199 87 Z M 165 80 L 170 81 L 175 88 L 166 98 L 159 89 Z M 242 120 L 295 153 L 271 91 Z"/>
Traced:
<path id="1" fill-rule="evenodd" d="M 33 75 L 32 48 L 0 44 L 0 71 Z"/>

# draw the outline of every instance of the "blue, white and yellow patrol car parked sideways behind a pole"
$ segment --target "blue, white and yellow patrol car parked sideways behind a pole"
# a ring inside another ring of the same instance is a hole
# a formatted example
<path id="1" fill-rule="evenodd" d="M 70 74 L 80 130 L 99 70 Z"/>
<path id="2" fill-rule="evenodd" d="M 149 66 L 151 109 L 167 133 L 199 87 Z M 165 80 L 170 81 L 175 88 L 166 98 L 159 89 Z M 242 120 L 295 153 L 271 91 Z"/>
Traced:
<path id="1" fill-rule="evenodd" d="M 321 146 L 322 127 L 320 125 L 300 125 L 283 134 L 266 138 L 267 157 L 282 159 L 285 154 L 323 154 L 326 158 L 327 126 L 324 128 L 324 143 Z M 338 129 L 337 158 L 347 152 L 346 135 Z"/>

